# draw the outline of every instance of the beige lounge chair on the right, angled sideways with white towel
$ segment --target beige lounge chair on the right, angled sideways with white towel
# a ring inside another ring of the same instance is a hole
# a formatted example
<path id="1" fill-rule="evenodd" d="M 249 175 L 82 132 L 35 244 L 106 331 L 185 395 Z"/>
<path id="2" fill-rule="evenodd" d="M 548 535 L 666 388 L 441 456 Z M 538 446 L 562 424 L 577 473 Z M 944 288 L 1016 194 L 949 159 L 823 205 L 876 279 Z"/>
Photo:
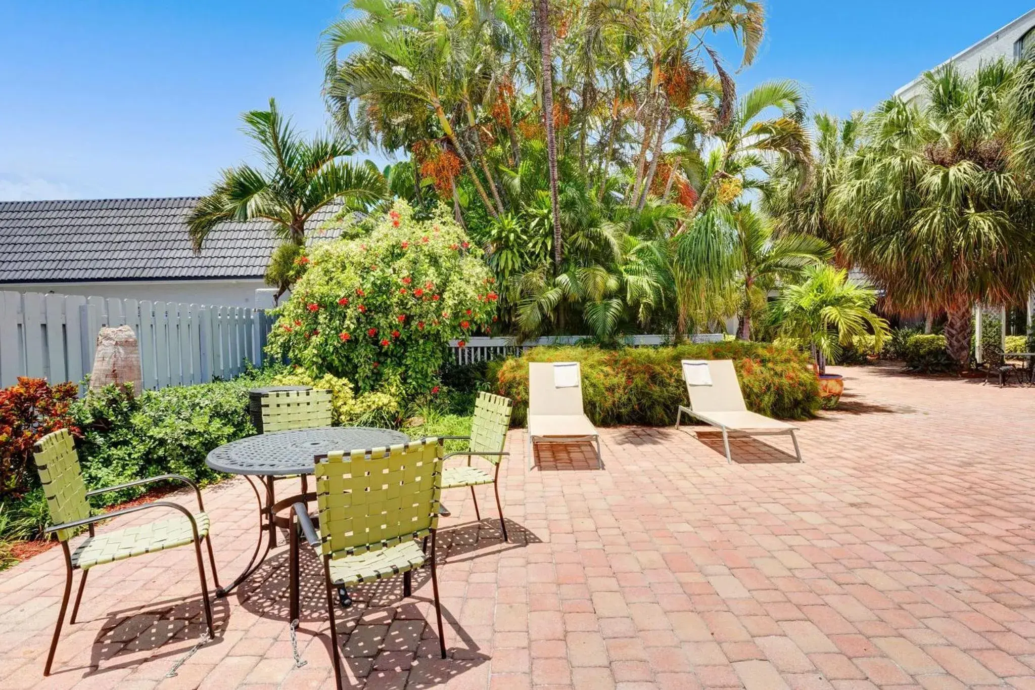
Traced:
<path id="1" fill-rule="evenodd" d="M 730 462 L 733 462 L 733 458 L 730 456 L 729 431 L 737 431 L 747 436 L 790 433 L 798 461 L 803 461 L 801 450 L 798 448 L 798 439 L 794 436 L 797 426 L 755 412 L 748 412 L 747 406 L 744 404 L 744 396 L 740 392 L 737 371 L 733 368 L 733 360 L 683 360 L 682 367 L 690 407 L 679 406 L 679 412 L 676 413 L 677 429 L 684 412 L 712 426 L 719 427 L 722 429 L 726 459 Z M 697 367 L 706 367 L 707 373 Z"/>

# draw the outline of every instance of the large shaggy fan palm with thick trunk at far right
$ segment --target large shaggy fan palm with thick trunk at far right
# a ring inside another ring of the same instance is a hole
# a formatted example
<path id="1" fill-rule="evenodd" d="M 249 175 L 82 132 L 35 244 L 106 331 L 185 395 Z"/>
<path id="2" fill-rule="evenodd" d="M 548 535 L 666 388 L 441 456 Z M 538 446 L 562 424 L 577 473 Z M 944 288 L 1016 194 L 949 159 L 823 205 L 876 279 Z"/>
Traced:
<path id="1" fill-rule="evenodd" d="M 973 304 L 1007 303 L 1035 283 L 1031 169 L 1011 164 L 1024 150 L 1009 117 L 1027 84 L 1016 74 L 1003 61 L 969 78 L 949 65 L 924 76 L 922 110 L 884 101 L 830 198 L 849 259 L 886 289 L 889 307 L 946 312 L 960 368 Z"/>

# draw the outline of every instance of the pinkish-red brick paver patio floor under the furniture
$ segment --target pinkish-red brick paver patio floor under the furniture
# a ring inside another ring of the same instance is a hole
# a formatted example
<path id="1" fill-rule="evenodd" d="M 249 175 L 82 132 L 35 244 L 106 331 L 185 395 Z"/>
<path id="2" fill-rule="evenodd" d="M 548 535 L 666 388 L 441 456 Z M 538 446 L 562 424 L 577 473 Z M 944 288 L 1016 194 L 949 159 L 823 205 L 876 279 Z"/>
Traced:
<path id="1" fill-rule="evenodd" d="M 440 533 L 450 658 L 426 573 L 353 592 L 338 618 L 353 687 L 1035 688 L 1035 389 L 844 369 L 842 409 L 790 441 L 687 429 L 603 430 L 592 450 L 543 448 L 526 472 L 511 432 L 512 543 L 491 488 L 447 494 Z M 186 500 L 187 497 L 184 498 Z M 220 576 L 254 544 L 242 481 L 206 491 Z M 286 548 L 202 632 L 194 556 L 99 567 L 43 658 L 64 578 L 58 550 L 0 574 L 0 687 L 331 687 L 318 562 L 306 561 L 295 668 Z"/>

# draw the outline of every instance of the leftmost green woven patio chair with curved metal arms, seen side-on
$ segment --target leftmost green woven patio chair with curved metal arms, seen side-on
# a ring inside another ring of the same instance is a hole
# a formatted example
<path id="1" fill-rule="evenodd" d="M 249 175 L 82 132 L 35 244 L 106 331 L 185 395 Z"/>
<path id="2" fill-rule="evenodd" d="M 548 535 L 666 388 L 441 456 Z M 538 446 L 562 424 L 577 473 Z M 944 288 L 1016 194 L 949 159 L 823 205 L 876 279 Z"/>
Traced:
<path id="1" fill-rule="evenodd" d="M 219 579 L 215 573 L 212 541 L 208 536 L 208 515 L 205 513 L 201 491 L 194 482 L 179 475 L 161 475 L 160 477 L 149 477 L 127 484 L 87 491 L 79 466 L 79 456 L 76 453 L 76 447 L 68 429 L 59 429 L 48 433 L 36 442 L 36 445 L 33 447 L 33 458 L 36 461 L 36 469 L 39 472 L 39 481 L 43 485 L 43 494 L 47 497 L 47 508 L 50 511 L 51 519 L 54 520 L 54 524 L 47 528 L 46 532 L 48 534 L 57 534 L 65 557 L 64 596 L 61 599 L 61 609 L 58 611 L 58 623 L 54 628 L 54 638 L 51 640 L 51 651 L 47 655 L 47 665 L 43 667 L 43 676 L 51 674 L 54 652 L 58 647 L 58 637 L 61 635 L 61 626 L 64 622 L 65 610 L 68 608 L 68 597 L 71 594 L 72 572 L 75 570 L 82 570 L 83 576 L 79 581 L 79 593 L 76 595 L 76 603 L 71 608 L 69 624 L 76 623 L 76 616 L 79 613 L 79 603 L 83 598 L 83 590 L 86 589 L 86 576 L 89 574 L 90 568 L 106 563 L 122 561 L 135 556 L 143 556 L 144 553 L 153 553 L 167 548 L 194 544 L 195 554 L 198 558 L 198 573 L 201 576 L 201 595 L 205 607 L 205 624 L 208 627 L 208 636 L 214 636 L 212 630 L 212 608 L 208 601 L 205 565 L 202 562 L 201 554 L 201 542 L 203 540 L 208 547 L 208 559 L 212 564 L 212 579 L 215 581 L 216 588 L 219 587 Z M 198 497 L 200 512 L 191 513 L 183 506 L 170 501 L 155 501 L 153 503 L 134 506 L 132 508 L 114 510 L 101 515 L 90 515 L 90 504 L 87 502 L 89 497 L 157 481 L 180 481 L 193 487 Z M 94 532 L 94 524 L 100 520 L 108 520 L 118 515 L 128 515 L 129 513 L 157 508 L 178 510 L 183 513 L 183 516 L 176 516 L 124 530 L 112 530 L 100 535 Z M 68 541 L 75 536 L 77 528 L 81 527 L 88 528 L 90 534 L 72 550 L 68 545 Z"/>

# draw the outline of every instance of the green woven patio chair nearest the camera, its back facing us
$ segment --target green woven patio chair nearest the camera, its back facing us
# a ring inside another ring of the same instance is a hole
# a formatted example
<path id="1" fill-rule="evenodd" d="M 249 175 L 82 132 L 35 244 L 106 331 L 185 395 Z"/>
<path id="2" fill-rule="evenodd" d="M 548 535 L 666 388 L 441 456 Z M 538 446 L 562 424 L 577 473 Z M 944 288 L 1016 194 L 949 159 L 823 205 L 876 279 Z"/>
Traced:
<path id="1" fill-rule="evenodd" d="M 422 439 L 373 450 L 352 450 L 316 456 L 316 524 L 305 504 L 293 506 L 298 529 L 291 530 L 290 599 L 292 624 L 298 619 L 298 558 L 301 530 L 309 546 L 323 556 L 330 618 L 331 660 L 342 688 L 342 660 L 334 623 L 334 590 L 403 574 L 403 596 L 409 597 L 411 573 L 425 563 L 432 570 L 432 593 L 439 629 L 439 648 L 446 658 L 435 569 L 435 533 L 442 493 L 442 442 Z M 431 553 L 417 539 L 431 537 Z"/>

